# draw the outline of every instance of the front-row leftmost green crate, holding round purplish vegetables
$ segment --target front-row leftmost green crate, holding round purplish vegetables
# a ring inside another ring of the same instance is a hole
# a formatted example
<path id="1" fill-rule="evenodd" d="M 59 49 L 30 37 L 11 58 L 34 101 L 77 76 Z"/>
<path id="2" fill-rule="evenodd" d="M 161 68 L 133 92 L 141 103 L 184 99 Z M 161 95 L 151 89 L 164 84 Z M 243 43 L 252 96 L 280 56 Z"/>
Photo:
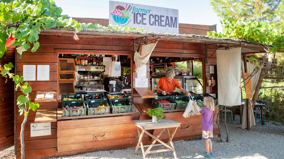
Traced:
<path id="1" fill-rule="evenodd" d="M 84 108 L 80 108 L 80 109 L 63 109 L 66 105 L 68 105 L 69 107 L 80 107 L 80 106 L 84 106 Z M 86 115 L 86 106 L 84 104 L 83 101 L 65 101 L 62 102 L 62 116 L 66 117 L 66 116 L 85 116 Z"/>

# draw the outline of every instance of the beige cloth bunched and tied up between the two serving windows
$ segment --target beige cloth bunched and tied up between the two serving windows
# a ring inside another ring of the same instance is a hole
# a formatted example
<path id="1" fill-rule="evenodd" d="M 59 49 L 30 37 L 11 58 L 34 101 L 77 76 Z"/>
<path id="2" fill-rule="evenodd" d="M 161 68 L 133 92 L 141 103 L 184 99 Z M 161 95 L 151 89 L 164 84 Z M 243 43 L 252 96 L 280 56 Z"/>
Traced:
<path id="1" fill-rule="evenodd" d="M 139 73 L 140 68 L 148 62 L 148 60 L 151 56 L 151 53 L 155 49 L 155 46 L 157 45 L 157 43 L 158 43 L 158 41 L 156 43 L 150 43 L 150 44 L 147 44 L 147 45 L 142 45 L 141 55 L 140 55 L 140 52 L 137 52 L 137 51 L 134 53 L 136 73 Z"/>

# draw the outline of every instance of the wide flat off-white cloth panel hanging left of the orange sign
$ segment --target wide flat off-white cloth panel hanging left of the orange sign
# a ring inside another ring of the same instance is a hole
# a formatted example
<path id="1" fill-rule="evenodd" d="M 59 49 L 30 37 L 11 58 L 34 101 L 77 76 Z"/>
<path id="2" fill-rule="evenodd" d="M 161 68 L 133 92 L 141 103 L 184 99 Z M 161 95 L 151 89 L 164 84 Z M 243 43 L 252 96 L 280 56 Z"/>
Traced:
<path id="1" fill-rule="evenodd" d="M 218 104 L 241 105 L 241 48 L 217 50 Z"/>

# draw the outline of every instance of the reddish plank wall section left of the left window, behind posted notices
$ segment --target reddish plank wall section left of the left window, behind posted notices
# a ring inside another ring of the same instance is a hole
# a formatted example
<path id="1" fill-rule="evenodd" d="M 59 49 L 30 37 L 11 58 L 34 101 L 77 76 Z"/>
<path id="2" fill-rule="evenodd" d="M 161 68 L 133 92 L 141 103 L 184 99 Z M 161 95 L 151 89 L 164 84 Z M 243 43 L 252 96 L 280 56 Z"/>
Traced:
<path id="1" fill-rule="evenodd" d="M 31 46 L 32 48 L 33 46 Z M 23 75 L 23 65 L 49 65 L 49 81 L 28 81 L 32 87 L 30 98 L 32 101 L 36 97 L 36 91 L 39 90 L 57 90 L 57 61 L 58 54 L 54 52 L 53 46 L 47 46 L 40 43 L 36 52 L 30 49 L 22 54 L 22 60 L 19 54 L 16 54 L 16 74 Z M 37 73 L 37 68 L 36 68 Z M 25 82 L 25 81 L 24 81 Z M 16 91 L 16 98 L 21 95 L 19 89 Z M 57 102 L 41 102 L 39 108 L 57 108 Z M 15 105 L 15 152 L 16 158 L 21 158 L 21 144 L 19 140 L 21 124 L 24 116 L 19 115 L 19 108 Z M 30 137 L 30 124 L 34 123 L 36 112 L 30 110 L 28 121 L 25 124 L 24 141 L 25 141 L 25 158 L 48 158 L 54 157 L 57 150 L 57 122 L 51 122 L 51 135 Z M 44 144 L 43 144 L 44 143 Z"/>

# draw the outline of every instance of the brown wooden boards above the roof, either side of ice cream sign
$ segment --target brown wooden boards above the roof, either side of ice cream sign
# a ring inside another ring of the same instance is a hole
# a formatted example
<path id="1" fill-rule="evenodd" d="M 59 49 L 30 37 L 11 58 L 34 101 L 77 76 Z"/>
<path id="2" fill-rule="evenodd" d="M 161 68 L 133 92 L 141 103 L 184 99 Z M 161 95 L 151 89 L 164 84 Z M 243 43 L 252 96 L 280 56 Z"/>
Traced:
<path id="1" fill-rule="evenodd" d="M 100 18 L 73 18 L 80 23 L 97 23 L 102 26 L 109 26 L 109 19 Z M 178 24 L 179 34 L 195 34 L 195 35 L 207 35 L 208 31 L 216 31 L 215 25 L 198 25 L 198 24 Z"/>

